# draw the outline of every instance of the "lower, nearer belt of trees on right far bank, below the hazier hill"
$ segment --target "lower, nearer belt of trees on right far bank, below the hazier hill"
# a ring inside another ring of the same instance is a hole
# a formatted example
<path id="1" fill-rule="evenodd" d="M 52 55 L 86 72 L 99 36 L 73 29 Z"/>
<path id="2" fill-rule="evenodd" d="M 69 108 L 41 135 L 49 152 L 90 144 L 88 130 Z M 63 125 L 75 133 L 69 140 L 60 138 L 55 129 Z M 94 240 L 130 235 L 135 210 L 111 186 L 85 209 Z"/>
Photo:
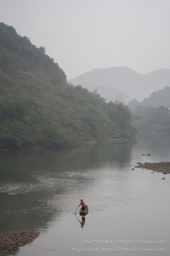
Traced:
<path id="1" fill-rule="evenodd" d="M 170 133 L 169 109 L 163 106 L 159 108 L 138 105 L 132 111 L 134 120 L 132 124 L 141 132 L 166 132 Z"/>

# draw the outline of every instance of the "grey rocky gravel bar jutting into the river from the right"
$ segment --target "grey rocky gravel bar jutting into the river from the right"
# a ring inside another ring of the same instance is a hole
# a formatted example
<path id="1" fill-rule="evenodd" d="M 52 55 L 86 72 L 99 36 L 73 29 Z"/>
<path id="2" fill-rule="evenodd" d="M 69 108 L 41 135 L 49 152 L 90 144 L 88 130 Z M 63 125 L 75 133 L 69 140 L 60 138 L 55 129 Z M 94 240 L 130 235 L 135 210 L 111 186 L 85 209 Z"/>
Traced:
<path id="1" fill-rule="evenodd" d="M 159 163 L 148 163 L 141 162 L 137 163 L 138 165 L 134 166 L 135 168 L 142 168 L 147 170 L 152 170 L 154 172 L 162 172 L 163 174 L 170 173 L 170 162 L 159 162 Z"/>

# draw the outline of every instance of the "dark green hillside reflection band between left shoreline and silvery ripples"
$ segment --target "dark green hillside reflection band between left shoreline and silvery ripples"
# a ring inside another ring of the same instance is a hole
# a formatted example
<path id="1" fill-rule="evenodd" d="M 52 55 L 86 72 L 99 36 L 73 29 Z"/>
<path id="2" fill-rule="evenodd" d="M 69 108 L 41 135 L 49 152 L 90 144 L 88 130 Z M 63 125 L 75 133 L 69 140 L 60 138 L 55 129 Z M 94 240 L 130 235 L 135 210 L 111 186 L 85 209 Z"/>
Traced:
<path id="1" fill-rule="evenodd" d="M 129 140 L 122 146 L 112 143 L 96 143 L 85 147 L 67 149 L 1 152 L 0 161 L 4 166 L 4 171 L 12 169 L 11 172 L 14 173 L 13 166 L 17 170 L 13 177 L 4 173 L 6 178 L 15 180 L 17 177 L 16 180 L 19 178 L 24 181 L 28 179 L 29 172 L 25 172 L 27 178 L 21 177 L 17 174 L 18 169 L 62 172 L 70 169 L 87 169 L 102 162 L 121 160 L 127 162 L 131 158 L 131 147 L 135 142 L 136 140 Z M 8 161 L 9 158 L 10 162 Z"/>

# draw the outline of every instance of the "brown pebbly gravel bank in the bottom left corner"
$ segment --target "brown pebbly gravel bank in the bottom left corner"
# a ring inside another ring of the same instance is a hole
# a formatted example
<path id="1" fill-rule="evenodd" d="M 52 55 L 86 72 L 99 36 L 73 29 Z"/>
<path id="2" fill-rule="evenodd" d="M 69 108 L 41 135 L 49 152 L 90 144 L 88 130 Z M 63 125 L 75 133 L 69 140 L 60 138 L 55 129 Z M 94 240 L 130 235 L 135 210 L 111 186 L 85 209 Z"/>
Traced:
<path id="1" fill-rule="evenodd" d="M 32 242 L 39 236 L 35 230 L 14 230 L 0 234 L 0 253 L 17 249 Z"/>

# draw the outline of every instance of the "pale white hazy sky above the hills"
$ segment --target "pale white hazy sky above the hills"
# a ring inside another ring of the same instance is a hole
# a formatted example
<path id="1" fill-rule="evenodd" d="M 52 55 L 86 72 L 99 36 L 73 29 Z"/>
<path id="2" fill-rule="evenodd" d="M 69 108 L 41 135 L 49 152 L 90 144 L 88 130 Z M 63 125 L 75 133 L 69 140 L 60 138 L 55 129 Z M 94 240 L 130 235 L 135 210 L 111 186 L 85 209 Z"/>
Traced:
<path id="1" fill-rule="evenodd" d="M 95 68 L 170 68 L 170 0 L 0 0 L 0 22 L 45 46 L 67 79 Z"/>

